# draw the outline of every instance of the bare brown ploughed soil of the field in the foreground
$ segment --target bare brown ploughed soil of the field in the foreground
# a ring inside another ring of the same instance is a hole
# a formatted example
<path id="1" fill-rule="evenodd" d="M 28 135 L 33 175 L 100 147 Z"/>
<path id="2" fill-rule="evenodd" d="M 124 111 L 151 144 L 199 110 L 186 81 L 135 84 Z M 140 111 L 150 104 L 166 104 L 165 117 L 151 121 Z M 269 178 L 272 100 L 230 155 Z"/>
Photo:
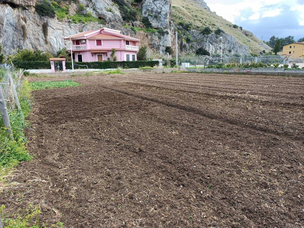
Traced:
<path id="1" fill-rule="evenodd" d="M 33 92 L 34 159 L 7 209 L 40 204 L 65 227 L 304 227 L 303 78 L 72 79 Z"/>

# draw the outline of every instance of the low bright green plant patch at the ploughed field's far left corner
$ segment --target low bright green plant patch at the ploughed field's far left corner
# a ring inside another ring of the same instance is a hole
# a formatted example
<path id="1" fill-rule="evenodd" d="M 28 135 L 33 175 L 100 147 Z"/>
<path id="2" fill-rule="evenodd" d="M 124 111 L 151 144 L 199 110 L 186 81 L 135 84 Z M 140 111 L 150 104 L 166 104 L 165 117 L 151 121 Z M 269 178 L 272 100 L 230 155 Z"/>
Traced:
<path id="1" fill-rule="evenodd" d="M 35 81 L 30 83 L 32 90 L 51 89 L 51 88 L 66 88 L 81 86 L 73 80 L 66 81 Z"/>

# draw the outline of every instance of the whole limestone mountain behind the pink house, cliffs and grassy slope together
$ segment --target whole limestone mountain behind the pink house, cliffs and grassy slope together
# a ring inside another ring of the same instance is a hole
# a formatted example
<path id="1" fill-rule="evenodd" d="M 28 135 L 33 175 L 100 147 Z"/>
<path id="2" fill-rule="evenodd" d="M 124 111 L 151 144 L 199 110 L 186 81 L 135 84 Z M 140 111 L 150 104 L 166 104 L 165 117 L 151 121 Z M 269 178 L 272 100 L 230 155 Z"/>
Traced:
<path id="1" fill-rule="evenodd" d="M 104 26 L 134 36 L 161 54 L 166 47 L 175 48 L 176 30 L 180 52 L 193 53 L 199 47 L 217 52 L 219 36 L 228 54 L 270 50 L 249 31 L 233 28 L 211 12 L 202 0 L 0 0 L 0 43 L 6 55 L 18 48 L 56 54 L 66 45 L 63 37 Z M 205 26 L 213 32 L 202 35 Z"/>

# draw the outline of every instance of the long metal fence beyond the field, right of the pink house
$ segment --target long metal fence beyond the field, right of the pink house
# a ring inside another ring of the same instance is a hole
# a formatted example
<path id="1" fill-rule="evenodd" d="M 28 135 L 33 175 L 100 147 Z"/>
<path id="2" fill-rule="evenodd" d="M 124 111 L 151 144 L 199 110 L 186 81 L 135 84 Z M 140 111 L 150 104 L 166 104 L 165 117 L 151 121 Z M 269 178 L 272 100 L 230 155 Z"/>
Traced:
<path id="1" fill-rule="evenodd" d="M 210 60 L 207 56 L 195 56 L 195 57 L 180 57 L 181 63 L 190 63 L 192 65 L 214 65 L 217 62 Z M 289 59 L 286 56 L 280 55 L 264 55 L 264 56 L 242 56 L 242 57 L 223 57 L 223 64 L 246 64 L 246 63 L 263 63 L 267 64 L 292 64 L 292 63 L 304 63 L 303 59 Z"/>

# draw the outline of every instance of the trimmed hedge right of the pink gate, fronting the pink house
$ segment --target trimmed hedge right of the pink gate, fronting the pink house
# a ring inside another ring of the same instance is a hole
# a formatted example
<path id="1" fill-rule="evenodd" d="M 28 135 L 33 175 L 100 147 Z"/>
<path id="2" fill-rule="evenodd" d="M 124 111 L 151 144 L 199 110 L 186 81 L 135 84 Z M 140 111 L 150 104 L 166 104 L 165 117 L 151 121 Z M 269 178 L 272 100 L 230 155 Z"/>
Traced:
<path id="1" fill-rule="evenodd" d="M 138 58 L 138 56 L 137 56 Z M 118 67 L 128 67 L 128 68 L 139 68 L 150 66 L 154 67 L 155 65 L 159 65 L 158 61 L 121 61 L 121 62 L 82 62 L 81 65 L 87 65 L 89 69 L 116 69 Z M 67 69 L 72 69 L 72 62 L 66 62 L 65 66 Z M 74 69 L 86 69 L 87 67 L 84 66 L 77 66 L 74 65 Z"/>

